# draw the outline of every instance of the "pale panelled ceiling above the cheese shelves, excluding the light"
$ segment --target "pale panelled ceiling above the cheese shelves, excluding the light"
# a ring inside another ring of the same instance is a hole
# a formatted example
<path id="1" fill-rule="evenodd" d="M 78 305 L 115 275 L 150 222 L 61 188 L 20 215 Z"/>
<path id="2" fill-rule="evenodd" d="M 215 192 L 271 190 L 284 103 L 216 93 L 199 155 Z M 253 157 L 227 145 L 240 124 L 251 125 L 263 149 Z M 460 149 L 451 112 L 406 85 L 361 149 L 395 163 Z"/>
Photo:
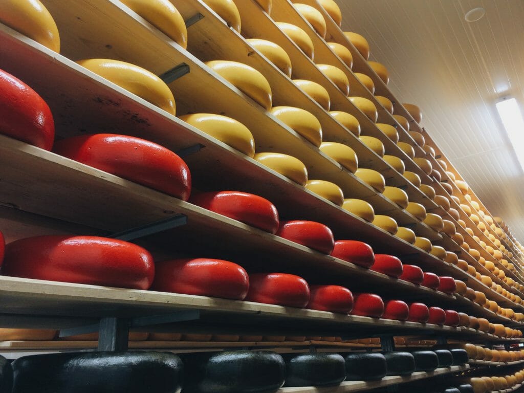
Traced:
<path id="1" fill-rule="evenodd" d="M 342 29 L 367 38 L 392 93 L 422 108 L 421 125 L 524 243 L 524 173 L 495 109 L 508 95 L 524 102 L 524 1 L 336 2 Z M 486 15 L 466 22 L 475 7 Z"/>

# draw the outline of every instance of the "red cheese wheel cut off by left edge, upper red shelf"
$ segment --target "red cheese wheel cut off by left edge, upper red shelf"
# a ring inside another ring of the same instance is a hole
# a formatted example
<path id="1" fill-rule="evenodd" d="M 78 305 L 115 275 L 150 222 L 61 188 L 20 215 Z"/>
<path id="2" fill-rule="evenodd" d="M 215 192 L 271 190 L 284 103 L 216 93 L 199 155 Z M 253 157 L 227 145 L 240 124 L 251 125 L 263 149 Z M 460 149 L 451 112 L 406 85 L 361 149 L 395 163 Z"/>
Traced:
<path id="1" fill-rule="evenodd" d="M 0 92 L 0 134 L 51 150 L 54 121 L 42 97 L 3 70 L 0 70 Z"/>

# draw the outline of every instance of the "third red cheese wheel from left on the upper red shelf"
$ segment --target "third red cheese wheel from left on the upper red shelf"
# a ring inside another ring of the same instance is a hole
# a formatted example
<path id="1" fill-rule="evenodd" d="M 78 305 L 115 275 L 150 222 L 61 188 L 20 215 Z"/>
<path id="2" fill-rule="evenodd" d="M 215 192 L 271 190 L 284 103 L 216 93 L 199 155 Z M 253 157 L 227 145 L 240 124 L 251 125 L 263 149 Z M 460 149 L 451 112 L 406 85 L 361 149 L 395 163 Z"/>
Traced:
<path id="1" fill-rule="evenodd" d="M 201 192 L 192 195 L 190 202 L 272 234 L 278 231 L 277 208 L 258 195 L 240 191 Z"/>

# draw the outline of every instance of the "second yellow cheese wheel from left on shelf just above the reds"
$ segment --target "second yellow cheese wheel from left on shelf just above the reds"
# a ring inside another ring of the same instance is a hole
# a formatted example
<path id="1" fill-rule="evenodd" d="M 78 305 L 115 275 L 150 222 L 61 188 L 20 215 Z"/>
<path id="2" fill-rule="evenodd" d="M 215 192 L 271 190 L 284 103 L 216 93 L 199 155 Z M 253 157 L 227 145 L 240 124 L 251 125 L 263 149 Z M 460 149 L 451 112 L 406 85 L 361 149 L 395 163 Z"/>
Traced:
<path id="1" fill-rule="evenodd" d="M 111 59 L 88 59 L 77 61 L 77 63 L 166 112 L 176 114 L 173 93 L 168 85 L 154 73 L 135 64 Z M 245 65 L 245 67 L 248 66 Z"/>

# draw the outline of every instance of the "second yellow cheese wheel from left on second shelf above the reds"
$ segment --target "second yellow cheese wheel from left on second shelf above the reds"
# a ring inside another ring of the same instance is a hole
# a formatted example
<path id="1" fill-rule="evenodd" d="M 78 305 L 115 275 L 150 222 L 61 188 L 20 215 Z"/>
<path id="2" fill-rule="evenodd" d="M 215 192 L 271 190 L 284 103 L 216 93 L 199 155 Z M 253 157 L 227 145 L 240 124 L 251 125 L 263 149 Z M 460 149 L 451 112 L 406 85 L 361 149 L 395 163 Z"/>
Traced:
<path id="1" fill-rule="evenodd" d="M 271 86 L 264 75 L 253 67 L 237 61 L 225 60 L 213 60 L 205 64 L 266 111 L 271 108 Z"/>

